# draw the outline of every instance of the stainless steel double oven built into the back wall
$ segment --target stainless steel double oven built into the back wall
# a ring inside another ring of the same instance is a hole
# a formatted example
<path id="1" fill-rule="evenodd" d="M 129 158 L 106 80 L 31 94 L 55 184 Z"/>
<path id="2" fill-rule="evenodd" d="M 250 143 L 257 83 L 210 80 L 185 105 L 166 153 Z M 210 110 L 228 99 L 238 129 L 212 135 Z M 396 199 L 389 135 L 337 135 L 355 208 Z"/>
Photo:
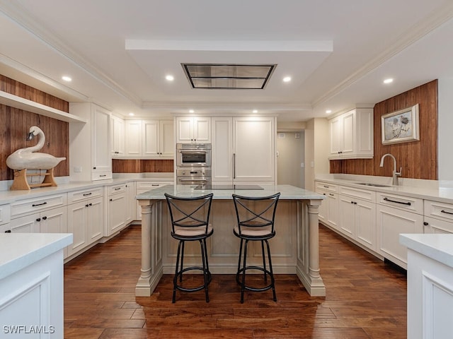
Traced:
<path id="1" fill-rule="evenodd" d="M 211 144 L 176 144 L 176 184 L 211 184 Z"/>

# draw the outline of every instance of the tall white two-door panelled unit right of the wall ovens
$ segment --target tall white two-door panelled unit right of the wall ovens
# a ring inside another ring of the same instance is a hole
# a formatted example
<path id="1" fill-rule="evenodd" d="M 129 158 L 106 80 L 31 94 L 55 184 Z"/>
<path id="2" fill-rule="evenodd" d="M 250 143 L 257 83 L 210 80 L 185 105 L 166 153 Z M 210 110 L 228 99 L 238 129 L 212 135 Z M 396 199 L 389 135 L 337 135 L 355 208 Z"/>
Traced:
<path id="1" fill-rule="evenodd" d="M 212 118 L 212 182 L 275 182 L 275 118 Z"/>

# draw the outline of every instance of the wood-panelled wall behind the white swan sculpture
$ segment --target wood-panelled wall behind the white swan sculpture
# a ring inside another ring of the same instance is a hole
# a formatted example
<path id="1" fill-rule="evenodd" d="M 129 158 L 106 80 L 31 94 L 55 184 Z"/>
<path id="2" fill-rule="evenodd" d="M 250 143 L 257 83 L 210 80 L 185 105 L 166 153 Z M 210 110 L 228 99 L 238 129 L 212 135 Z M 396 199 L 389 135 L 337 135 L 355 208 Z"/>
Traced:
<path id="1" fill-rule="evenodd" d="M 69 112 L 69 102 L 6 78 L 6 76 L 0 75 L 0 90 L 63 112 Z M 6 166 L 8 155 L 18 148 L 30 147 L 37 143 L 36 138 L 25 141 L 28 131 L 33 125 L 39 126 L 45 133 L 46 143 L 41 149 L 42 153 L 67 158 L 55 167 L 55 176 L 69 175 L 69 124 L 67 122 L 1 104 L 0 121 L 0 180 L 13 179 L 13 170 Z"/>

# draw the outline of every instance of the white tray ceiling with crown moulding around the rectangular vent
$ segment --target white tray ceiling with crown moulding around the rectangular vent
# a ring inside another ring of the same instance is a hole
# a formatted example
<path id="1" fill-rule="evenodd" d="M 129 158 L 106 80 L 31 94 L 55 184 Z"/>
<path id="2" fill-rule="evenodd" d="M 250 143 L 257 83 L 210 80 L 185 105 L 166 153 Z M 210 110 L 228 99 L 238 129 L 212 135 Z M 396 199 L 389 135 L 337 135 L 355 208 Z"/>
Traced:
<path id="1" fill-rule="evenodd" d="M 453 77 L 452 0 L 0 0 L 0 27 L 1 74 L 123 116 L 306 121 Z M 264 90 L 190 88 L 180 64 L 203 62 L 277 68 Z"/>

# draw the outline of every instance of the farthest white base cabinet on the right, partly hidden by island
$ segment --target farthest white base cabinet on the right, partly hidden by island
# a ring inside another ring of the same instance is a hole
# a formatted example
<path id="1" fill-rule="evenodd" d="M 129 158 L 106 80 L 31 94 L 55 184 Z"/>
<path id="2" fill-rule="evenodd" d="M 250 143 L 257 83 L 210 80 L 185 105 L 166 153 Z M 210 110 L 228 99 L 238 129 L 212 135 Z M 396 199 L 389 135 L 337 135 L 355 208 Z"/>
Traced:
<path id="1" fill-rule="evenodd" d="M 319 207 L 319 221 L 338 230 L 338 186 L 316 182 L 315 191 L 326 196 Z"/>

